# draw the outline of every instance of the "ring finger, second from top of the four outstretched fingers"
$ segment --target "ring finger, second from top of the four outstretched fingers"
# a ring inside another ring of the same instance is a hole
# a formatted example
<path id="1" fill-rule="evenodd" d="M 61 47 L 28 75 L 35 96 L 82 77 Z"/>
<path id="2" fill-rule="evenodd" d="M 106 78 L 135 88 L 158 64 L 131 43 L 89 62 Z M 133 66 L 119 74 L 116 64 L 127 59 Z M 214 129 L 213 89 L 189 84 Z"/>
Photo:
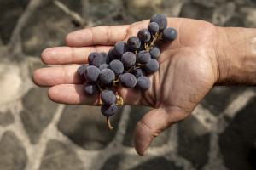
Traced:
<path id="1" fill-rule="evenodd" d="M 110 46 L 91 46 L 84 48 L 57 47 L 44 49 L 41 54 L 46 65 L 67 65 L 88 63 L 88 55 L 92 52 L 108 53 Z"/>

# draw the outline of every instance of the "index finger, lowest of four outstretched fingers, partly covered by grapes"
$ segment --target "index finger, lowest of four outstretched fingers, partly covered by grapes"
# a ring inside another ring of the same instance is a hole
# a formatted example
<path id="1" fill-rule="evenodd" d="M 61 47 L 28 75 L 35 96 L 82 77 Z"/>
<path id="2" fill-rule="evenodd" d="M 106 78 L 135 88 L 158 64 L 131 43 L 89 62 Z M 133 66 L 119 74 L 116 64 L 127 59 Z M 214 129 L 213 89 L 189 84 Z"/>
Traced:
<path id="1" fill-rule="evenodd" d="M 124 99 L 124 105 L 149 106 L 136 88 L 119 88 L 119 96 Z M 100 105 L 99 94 L 84 93 L 83 84 L 60 84 L 49 88 L 49 99 L 67 105 Z"/>

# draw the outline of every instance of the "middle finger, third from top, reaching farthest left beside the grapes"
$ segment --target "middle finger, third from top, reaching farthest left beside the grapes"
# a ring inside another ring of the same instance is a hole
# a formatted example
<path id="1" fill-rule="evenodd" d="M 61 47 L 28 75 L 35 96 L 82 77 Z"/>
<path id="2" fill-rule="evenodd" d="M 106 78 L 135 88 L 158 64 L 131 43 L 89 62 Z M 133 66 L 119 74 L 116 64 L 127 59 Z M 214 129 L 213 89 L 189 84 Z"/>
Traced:
<path id="1" fill-rule="evenodd" d="M 50 87 L 58 84 L 81 84 L 84 81 L 77 73 L 79 65 L 61 67 L 47 67 L 38 69 L 32 74 L 35 84 L 42 87 Z"/>

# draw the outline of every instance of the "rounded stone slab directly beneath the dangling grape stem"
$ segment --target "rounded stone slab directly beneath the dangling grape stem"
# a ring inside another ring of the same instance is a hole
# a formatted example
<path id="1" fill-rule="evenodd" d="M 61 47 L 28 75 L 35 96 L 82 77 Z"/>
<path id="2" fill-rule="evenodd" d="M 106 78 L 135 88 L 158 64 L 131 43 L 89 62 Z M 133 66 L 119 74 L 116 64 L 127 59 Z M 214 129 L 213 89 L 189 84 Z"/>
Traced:
<path id="1" fill-rule="evenodd" d="M 58 128 L 85 150 L 100 150 L 113 140 L 121 112 L 119 108 L 115 115 L 110 117 L 114 128 L 109 130 L 101 107 L 69 105 L 62 113 Z"/>

